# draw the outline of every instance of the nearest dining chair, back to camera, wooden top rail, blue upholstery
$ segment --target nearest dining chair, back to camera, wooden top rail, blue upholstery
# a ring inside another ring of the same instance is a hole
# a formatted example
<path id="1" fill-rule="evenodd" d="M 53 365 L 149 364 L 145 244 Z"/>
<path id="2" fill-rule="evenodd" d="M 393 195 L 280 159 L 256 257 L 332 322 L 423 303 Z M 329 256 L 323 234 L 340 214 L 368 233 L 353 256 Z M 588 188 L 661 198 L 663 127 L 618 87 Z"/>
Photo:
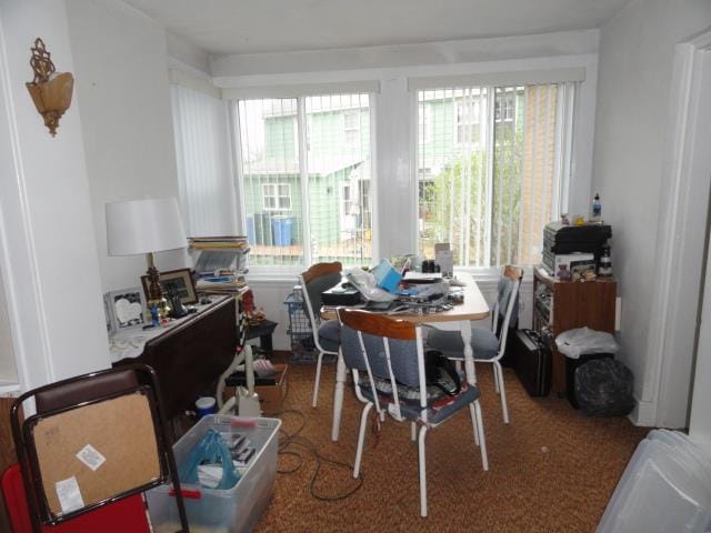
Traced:
<path id="1" fill-rule="evenodd" d="M 410 422 L 411 438 L 418 440 L 420 514 L 427 516 L 425 435 L 430 429 L 468 406 L 474 443 L 481 449 L 483 470 L 489 470 L 479 389 L 464 379 L 460 380 L 459 392 L 453 391 L 451 379 L 438 380 L 449 393 L 427 383 L 421 326 L 348 308 L 340 308 L 338 315 L 343 361 L 352 372 L 357 398 L 365 404 L 360 416 L 353 477 L 360 475 L 368 415 L 373 408 L 381 419 L 387 413 L 399 422 Z"/>

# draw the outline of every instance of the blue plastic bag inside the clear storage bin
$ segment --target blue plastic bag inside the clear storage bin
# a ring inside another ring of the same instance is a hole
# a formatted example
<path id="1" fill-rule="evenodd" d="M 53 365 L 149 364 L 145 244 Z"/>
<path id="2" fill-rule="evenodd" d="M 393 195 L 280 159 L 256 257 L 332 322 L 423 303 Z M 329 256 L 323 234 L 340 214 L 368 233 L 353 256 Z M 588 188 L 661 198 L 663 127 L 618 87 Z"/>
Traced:
<path id="1" fill-rule="evenodd" d="M 181 483 L 198 484 L 198 466 L 200 465 L 220 465 L 222 469 L 222 479 L 217 486 L 210 489 L 232 489 L 239 476 L 232 463 L 232 455 L 227 444 L 222 440 L 219 432 L 209 429 L 202 440 L 190 451 L 186 460 L 178 466 L 178 476 Z"/>

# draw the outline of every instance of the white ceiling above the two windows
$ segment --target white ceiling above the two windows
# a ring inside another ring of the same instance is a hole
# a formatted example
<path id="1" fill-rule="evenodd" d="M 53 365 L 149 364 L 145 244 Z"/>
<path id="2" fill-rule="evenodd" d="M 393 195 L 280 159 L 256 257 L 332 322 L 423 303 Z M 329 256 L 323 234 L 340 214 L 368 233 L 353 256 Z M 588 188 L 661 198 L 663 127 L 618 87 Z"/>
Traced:
<path id="1" fill-rule="evenodd" d="M 599 28 L 630 0 L 124 0 L 212 54 Z"/>

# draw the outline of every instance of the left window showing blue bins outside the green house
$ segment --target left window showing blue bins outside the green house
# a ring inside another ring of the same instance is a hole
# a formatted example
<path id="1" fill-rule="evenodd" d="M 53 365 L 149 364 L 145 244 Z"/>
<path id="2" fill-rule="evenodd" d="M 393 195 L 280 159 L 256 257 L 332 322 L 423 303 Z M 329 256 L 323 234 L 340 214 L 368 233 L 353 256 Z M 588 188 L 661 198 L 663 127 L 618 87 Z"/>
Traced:
<path id="1" fill-rule="evenodd" d="M 238 117 L 251 264 L 370 264 L 368 94 L 241 100 Z"/>

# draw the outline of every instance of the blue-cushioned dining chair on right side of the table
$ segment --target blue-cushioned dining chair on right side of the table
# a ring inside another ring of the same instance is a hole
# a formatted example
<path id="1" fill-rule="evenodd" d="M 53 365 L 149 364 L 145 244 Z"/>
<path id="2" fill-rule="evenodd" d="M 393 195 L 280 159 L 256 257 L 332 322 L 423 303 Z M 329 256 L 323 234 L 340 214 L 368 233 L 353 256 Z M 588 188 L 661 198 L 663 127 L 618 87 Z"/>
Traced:
<path id="1" fill-rule="evenodd" d="M 499 279 L 497 303 L 492 313 L 491 329 L 472 326 L 471 348 L 474 362 L 491 363 L 493 368 L 494 390 L 501 396 L 503 422 L 509 423 L 509 406 L 503 384 L 501 358 L 507 350 L 510 326 L 517 323 L 519 306 L 519 288 L 523 278 L 523 269 L 507 265 Z M 428 330 L 427 348 L 438 350 L 449 359 L 463 359 L 464 343 L 461 335 L 453 331 Z M 498 335 L 497 335 L 498 332 Z"/>

